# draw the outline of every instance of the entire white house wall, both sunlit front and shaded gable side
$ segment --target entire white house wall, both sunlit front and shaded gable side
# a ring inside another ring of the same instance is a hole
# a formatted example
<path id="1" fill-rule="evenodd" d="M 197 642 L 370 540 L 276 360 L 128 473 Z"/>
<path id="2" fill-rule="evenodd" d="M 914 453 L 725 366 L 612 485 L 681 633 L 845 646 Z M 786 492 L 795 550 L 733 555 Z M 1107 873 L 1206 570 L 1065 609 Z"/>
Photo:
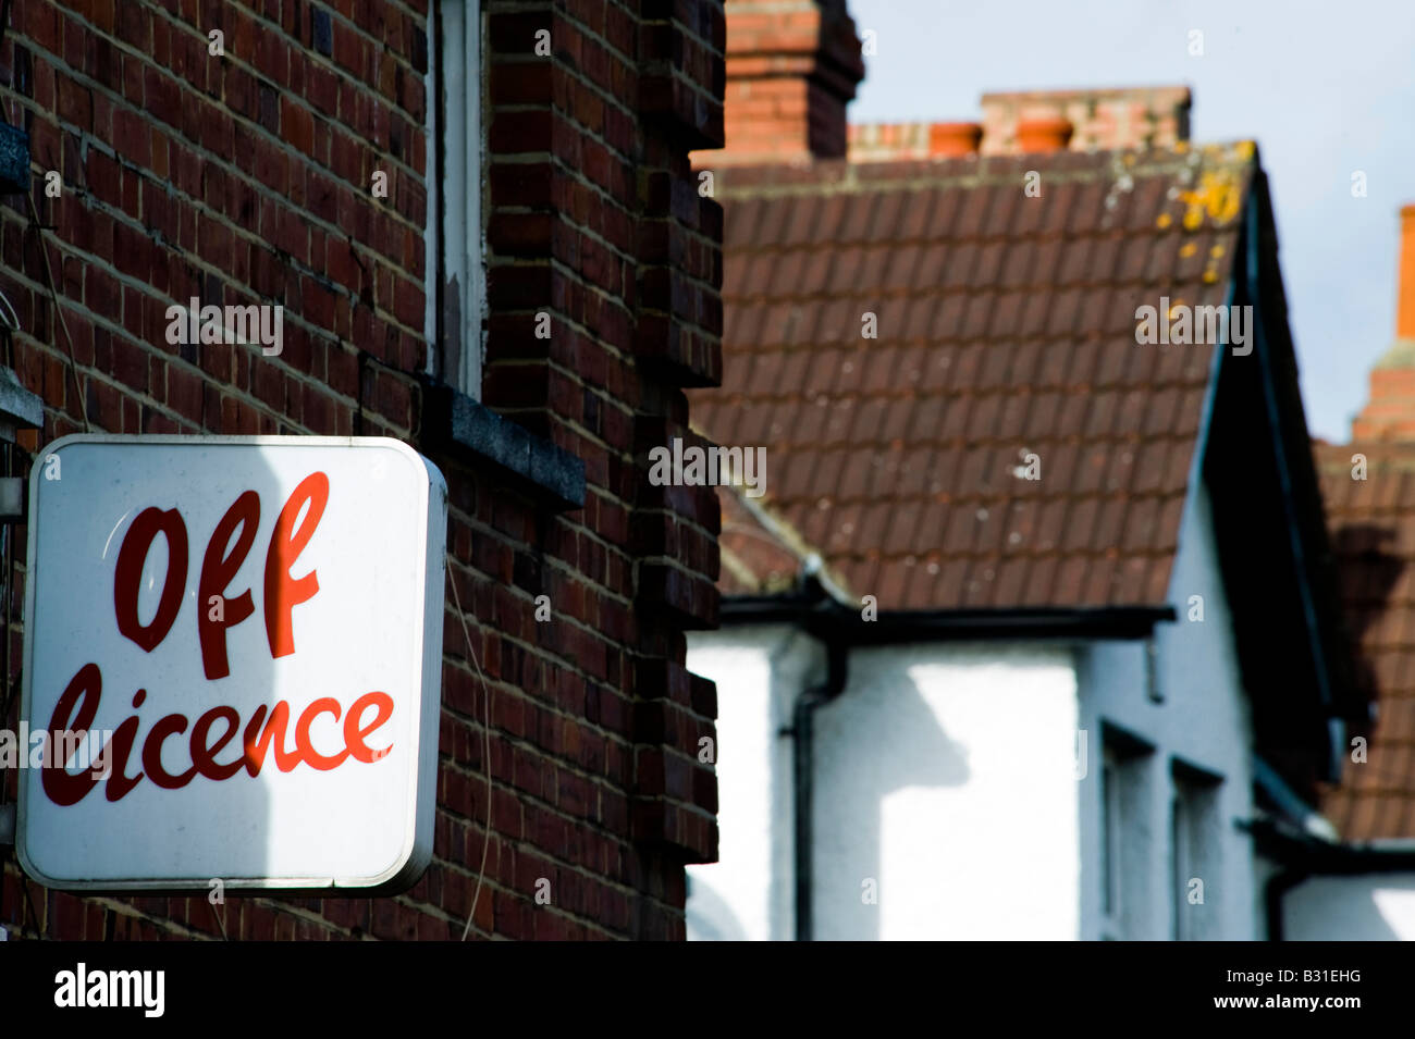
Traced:
<path id="1" fill-rule="evenodd" d="M 1201 622 L 1187 619 L 1190 595 L 1203 597 Z M 1203 491 L 1182 527 L 1170 602 L 1179 621 L 1156 630 L 1159 703 L 1143 642 L 852 650 L 845 693 L 815 714 L 815 937 L 1101 937 L 1102 720 L 1155 748 L 1129 838 L 1143 851 L 1143 903 L 1124 937 L 1174 933 L 1176 758 L 1223 777 L 1204 902 L 1182 912 L 1204 937 L 1265 937 L 1251 840 L 1235 826 L 1252 818 L 1251 724 Z M 720 862 L 688 871 L 689 934 L 790 939 L 781 731 L 824 677 L 824 650 L 785 625 L 734 626 L 691 635 L 688 666 L 717 683 L 722 827 Z M 876 903 L 862 898 L 872 893 Z"/>

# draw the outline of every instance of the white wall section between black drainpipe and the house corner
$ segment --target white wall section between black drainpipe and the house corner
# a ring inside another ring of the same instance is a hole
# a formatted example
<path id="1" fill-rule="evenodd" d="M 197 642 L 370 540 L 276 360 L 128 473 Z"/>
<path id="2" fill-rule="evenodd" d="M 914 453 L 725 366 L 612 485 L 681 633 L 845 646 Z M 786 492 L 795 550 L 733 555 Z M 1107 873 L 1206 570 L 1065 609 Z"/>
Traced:
<path id="1" fill-rule="evenodd" d="M 1074 939 L 1070 652 L 928 643 L 849 667 L 815 715 L 815 937 Z"/>

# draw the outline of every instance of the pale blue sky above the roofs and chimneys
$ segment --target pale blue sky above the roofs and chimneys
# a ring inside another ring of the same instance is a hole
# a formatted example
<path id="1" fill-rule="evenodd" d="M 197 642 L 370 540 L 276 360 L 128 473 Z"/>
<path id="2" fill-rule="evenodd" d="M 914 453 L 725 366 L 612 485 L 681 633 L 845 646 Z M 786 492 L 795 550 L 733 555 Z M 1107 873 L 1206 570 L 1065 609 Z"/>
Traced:
<path id="1" fill-rule="evenodd" d="M 1258 141 L 1313 435 L 1344 441 L 1395 334 L 1415 202 L 1415 0 L 848 0 L 850 120 L 979 119 L 986 90 L 1186 83 L 1196 141 Z M 1204 37 L 1190 57 L 1190 30 Z M 1351 172 L 1367 196 L 1351 196 Z"/>

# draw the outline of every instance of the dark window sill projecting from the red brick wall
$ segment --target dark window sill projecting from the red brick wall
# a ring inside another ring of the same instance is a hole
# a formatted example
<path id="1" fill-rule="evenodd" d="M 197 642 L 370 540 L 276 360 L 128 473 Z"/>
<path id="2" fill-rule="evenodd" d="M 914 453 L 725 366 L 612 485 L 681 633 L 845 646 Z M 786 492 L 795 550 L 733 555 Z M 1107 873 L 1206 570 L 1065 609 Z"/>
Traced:
<path id="1" fill-rule="evenodd" d="M 584 507 L 584 461 L 450 386 L 423 389 L 427 447 L 490 462 L 556 512 Z"/>

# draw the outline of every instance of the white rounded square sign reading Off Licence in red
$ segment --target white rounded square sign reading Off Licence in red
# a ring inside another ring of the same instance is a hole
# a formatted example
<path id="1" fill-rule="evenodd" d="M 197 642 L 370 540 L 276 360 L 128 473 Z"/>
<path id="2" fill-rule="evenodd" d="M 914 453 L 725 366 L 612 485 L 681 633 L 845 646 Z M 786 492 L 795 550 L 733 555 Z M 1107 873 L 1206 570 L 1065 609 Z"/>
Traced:
<path id="1" fill-rule="evenodd" d="M 410 886 L 446 483 L 383 437 L 76 435 L 30 486 L 17 852 L 79 891 Z"/>

